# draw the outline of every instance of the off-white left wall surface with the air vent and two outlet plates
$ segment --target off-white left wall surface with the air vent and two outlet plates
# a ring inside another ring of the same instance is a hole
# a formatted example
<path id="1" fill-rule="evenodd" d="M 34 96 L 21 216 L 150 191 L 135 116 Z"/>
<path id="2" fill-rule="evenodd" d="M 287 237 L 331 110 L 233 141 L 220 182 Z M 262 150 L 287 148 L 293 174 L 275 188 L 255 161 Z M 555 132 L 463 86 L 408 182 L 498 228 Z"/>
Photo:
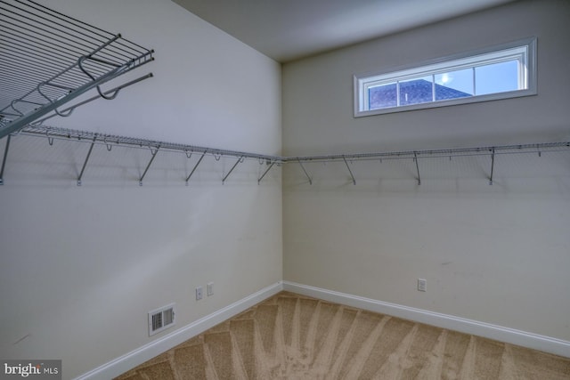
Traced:
<path id="1" fill-rule="evenodd" d="M 269 155 L 281 150 L 281 66 L 169 0 L 48 6 L 156 50 L 153 78 L 52 124 Z M 126 82 L 119 79 L 118 83 Z M 4 141 L 0 142 L 4 153 Z M 232 158 L 16 136 L 0 187 L 0 357 L 61 359 L 63 378 L 148 344 L 147 311 L 176 327 L 282 277 L 281 170 Z M 215 295 L 194 301 L 214 281 Z"/>

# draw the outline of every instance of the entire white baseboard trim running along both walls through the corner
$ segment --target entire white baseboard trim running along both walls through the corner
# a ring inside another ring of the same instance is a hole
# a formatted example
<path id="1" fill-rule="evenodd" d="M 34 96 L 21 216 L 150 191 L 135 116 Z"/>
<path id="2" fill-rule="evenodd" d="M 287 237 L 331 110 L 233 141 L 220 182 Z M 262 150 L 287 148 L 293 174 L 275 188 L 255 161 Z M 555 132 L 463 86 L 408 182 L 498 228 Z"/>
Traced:
<path id="1" fill-rule="evenodd" d="M 419 323 L 459 331 L 474 336 L 483 336 L 499 340 L 501 342 L 517 344 L 534 350 L 550 352 L 570 358 L 570 342 L 552 338 L 550 336 L 541 336 L 514 328 L 496 326 L 473 319 L 465 319 L 434 311 L 416 309 L 396 303 L 386 303 L 358 295 L 348 295 L 346 293 L 323 289 L 321 287 L 311 287 L 290 281 L 280 281 L 269 287 L 265 287 L 252 295 L 248 295 L 240 301 L 232 303 L 219 311 L 198 319 L 185 327 L 181 327 L 167 336 L 162 336 L 132 352 L 128 352 L 115 360 L 111 360 L 110 362 L 103 364 L 101 367 L 94 368 L 93 370 L 76 377 L 74 380 L 108 380 L 119 376 L 129 369 L 134 368 L 147 360 L 151 360 L 160 353 L 166 352 L 178 344 L 182 344 L 191 337 L 198 336 L 208 330 L 208 328 L 214 327 L 224 320 L 232 318 L 241 311 L 246 311 L 251 306 L 276 295 L 281 292 L 281 290 L 297 293 L 299 295 L 308 295 L 332 303 L 341 303 L 359 309 L 375 311 L 398 318 L 410 319 Z"/>

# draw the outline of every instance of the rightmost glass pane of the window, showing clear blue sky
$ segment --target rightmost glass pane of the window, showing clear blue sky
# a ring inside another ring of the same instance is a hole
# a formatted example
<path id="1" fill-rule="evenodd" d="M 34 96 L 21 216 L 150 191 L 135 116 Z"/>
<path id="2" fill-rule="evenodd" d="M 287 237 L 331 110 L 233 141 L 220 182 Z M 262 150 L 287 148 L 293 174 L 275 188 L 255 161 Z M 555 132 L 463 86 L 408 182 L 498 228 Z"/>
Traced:
<path id="1" fill-rule="evenodd" d="M 493 63 L 475 68 L 477 95 L 518 90 L 518 61 Z"/>

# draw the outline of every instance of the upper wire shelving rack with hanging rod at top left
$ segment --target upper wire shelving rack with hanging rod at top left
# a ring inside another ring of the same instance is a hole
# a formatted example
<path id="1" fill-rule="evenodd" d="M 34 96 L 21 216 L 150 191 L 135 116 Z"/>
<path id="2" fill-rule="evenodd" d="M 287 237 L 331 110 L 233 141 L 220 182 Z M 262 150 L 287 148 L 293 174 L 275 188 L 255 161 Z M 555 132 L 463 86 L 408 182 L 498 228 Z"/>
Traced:
<path id="1" fill-rule="evenodd" d="M 126 85 L 100 85 L 153 60 L 152 50 L 31 0 L 0 0 L 0 25 L 0 139 L 69 116 L 85 101 L 61 106 L 90 90 L 115 98 Z"/>

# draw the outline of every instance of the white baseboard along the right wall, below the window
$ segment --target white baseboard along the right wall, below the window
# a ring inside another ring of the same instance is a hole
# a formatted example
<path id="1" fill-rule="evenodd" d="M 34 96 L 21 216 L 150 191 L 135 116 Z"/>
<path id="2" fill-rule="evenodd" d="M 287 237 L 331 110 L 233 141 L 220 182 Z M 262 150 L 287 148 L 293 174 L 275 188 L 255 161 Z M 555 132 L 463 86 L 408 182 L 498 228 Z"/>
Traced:
<path id="1" fill-rule="evenodd" d="M 570 342 L 550 336 L 540 336 L 514 328 L 496 326 L 473 319 L 416 309 L 396 303 L 386 303 L 358 295 L 347 295 L 321 287 L 310 287 L 290 281 L 283 281 L 283 290 L 570 358 Z"/>

